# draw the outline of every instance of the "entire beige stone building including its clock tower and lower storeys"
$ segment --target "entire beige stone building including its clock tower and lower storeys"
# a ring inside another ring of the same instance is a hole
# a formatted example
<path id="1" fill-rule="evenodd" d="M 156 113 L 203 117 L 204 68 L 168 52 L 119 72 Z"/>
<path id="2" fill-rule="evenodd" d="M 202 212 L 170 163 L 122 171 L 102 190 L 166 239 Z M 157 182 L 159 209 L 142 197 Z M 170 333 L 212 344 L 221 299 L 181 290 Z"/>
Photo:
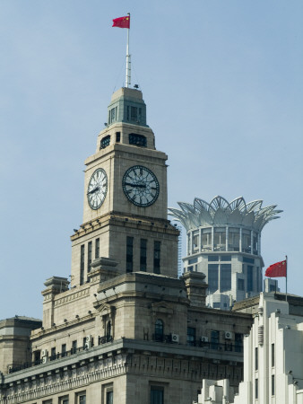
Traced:
<path id="1" fill-rule="evenodd" d="M 6 347 L 0 404 L 184 404 L 203 378 L 228 378 L 237 390 L 252 316 L 206 307 L 201 272 L 177 277 L 167 158 L 155 148 L 142 92 L 115 92 L 85 162 L 71 284 L 45 282 L 42 325 L 24 334 L 27 355 L 18 336 Z"/>

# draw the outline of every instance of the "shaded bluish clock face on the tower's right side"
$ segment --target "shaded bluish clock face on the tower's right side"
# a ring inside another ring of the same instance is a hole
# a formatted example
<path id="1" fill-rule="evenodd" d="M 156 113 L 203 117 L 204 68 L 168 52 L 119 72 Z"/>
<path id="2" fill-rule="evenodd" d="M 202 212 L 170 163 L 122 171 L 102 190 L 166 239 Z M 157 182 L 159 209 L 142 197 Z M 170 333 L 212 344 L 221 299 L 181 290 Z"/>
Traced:
<path id="1" fill-rule="evenodd" d="M 128 200 L 136 206 L 151 206 L 159 196 L 157 177 L 142 165 L 134 165 L 126 171 L 122 186 Z"/>

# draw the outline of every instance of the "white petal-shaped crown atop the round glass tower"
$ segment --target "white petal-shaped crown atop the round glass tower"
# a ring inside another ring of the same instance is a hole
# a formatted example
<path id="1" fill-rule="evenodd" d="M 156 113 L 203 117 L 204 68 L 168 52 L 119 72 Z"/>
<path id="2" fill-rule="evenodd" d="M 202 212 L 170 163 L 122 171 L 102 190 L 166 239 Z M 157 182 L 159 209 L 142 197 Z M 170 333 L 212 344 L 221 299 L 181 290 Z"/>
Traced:
<path id="1" fill-rule="evenodd" d="M 242 197 L 228 202 L 220 196 L 212 199 L 211 203 L 195 198 L 194 204 L 177 203 L 181 209 L 169 207 L 169 215 L 181 222 L 186 231 L 204 226 L 235 225 L 245 226 L 261 232 L 264 225 L 277 216 L 282 210 L 276 210 L 276 205 L 262 207 L 263 200 L 258 199 L 246 203 Z"/>

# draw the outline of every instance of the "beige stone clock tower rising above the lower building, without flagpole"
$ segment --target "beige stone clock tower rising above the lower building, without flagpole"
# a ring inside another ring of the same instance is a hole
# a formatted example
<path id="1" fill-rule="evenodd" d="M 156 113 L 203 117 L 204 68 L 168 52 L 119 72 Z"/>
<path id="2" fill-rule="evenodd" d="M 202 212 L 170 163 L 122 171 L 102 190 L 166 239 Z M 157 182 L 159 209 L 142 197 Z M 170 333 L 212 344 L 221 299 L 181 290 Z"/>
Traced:
<path id="1" fill-rule="evenodd" d="M 167 220 L 167 158 L 155 148 L 142 92 L 115 92 L 96 153 L 85 162 L 83 224 L 72 236 L 72 286 L 97 280 L 98 269 L 105 278 L 137 271 L 177 277 L 178 231 Z"/>

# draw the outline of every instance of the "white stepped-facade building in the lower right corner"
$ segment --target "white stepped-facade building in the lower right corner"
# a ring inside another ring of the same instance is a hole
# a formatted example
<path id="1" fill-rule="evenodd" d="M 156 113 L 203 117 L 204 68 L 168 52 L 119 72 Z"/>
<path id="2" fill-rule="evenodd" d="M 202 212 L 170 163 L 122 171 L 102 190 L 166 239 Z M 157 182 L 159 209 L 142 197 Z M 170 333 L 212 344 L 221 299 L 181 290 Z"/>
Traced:
<path id="1" fill-rule="evenodd" d="M 199 404 L 303 403 L 303 298 L 285 298 L 261 294 L 235 305 L 255 318 L 244 340 L 244 381 L 235 394 L 227 379 L 203 380 Z"/>

